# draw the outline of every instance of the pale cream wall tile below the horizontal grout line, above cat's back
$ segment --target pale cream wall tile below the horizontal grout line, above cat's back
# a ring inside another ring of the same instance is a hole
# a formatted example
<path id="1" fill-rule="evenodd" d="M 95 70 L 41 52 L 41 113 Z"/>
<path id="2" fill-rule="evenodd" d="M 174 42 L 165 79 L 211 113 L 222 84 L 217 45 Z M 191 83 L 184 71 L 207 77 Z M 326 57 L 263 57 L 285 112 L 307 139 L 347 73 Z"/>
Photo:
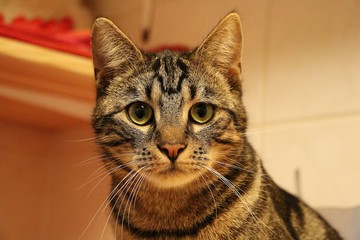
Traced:
<path id="1" fill-rule="evenodd" d="M 311 205 L 349 207 L 360 201 L 360 115 L 268 127 L 263 159 L 279 184 L 294 192 L 301 173 Z"/>

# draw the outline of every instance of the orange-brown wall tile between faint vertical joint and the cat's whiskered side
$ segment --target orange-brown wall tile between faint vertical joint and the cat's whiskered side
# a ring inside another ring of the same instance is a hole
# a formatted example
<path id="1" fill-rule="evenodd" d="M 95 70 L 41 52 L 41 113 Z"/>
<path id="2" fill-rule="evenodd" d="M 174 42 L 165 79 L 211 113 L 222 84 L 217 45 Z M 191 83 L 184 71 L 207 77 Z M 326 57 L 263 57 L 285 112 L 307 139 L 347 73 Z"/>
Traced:
<path id="1" fill-rule="evenodd" d="M 100 239 L 109 216 L 102 206 L 107 206 L 110 185 L 108 174 L 98 171 L 103 169 L 99 155 L 90 126 L 53 136 L 43 239 L 78 239 L 83 233 L 85 240 Z"/>

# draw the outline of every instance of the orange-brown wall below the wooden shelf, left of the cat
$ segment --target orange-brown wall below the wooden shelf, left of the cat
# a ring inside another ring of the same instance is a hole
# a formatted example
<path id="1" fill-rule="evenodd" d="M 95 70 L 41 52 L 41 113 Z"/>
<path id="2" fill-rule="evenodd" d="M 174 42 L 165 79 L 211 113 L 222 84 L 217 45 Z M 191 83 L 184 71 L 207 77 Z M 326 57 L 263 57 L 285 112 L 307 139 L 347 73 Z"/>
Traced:
<path id="1" fill-rule="evenodd" d="M 59 134 L 1 123 L 0 133 L 1 240 L 75 240 L 82 233 L 98 240 L 104 228 L 103 239 L 111 239 L 109 212 L 101 208 L 109 179 L 92 175 L 101 160 L 93 141 L 83 140 L 92 137 L 90 127 Z"/>

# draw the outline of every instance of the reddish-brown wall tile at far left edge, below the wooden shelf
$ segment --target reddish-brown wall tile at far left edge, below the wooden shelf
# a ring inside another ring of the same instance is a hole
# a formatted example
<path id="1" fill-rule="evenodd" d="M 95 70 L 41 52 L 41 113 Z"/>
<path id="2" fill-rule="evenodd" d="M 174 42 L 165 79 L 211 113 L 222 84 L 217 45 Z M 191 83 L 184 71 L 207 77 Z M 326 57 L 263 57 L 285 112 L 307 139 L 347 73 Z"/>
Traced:
<path id="1" fill-rule="evenodd" d="M 46 214 L 49 135 L 9 124 L 0 124 L 0 133 L 0 239 L 40 238 Z"/>

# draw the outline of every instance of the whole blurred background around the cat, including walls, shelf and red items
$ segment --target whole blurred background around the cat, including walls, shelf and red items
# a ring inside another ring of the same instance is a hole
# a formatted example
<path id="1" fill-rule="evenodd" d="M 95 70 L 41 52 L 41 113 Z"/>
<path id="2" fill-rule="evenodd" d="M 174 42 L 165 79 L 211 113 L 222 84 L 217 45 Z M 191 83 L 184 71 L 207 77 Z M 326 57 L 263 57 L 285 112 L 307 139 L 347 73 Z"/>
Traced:
<path id="1" fill-rule="evenodd" d="M 0 239 L 113 239 L 90 127 L 95 17 L 153 50 L 196 46 L 232 10 L 251 142 L 276 182 L 359 239 L 358 0 L 0 0 Z"/>

